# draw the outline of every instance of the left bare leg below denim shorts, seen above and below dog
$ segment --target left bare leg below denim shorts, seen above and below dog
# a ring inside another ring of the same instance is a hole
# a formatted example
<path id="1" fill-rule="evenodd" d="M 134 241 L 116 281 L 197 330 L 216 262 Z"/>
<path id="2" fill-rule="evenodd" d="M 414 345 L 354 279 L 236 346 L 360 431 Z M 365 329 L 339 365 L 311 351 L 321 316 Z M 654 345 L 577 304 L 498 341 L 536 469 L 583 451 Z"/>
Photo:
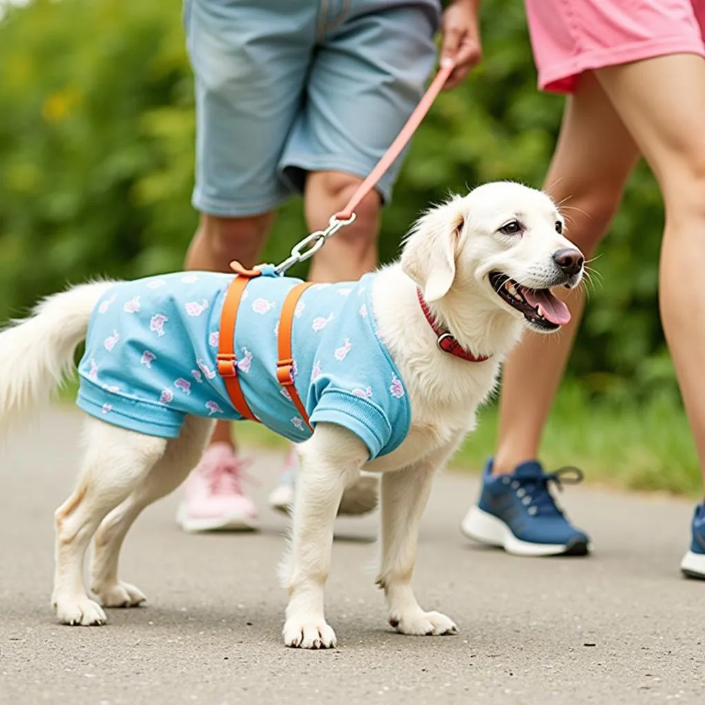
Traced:
<path id="1" fill-rule="evenodd" d="M 248 218 L 220 218 L 207 214 L 201 221 L 186 255 L 186 269 L 231 271 L 233 259 L 246 267 L 257 264 L 264 240 L 274 222 L 274 213 Z M 236 447 L 231 424 L 219 421 L 211 444 L 227 443 Z"/>

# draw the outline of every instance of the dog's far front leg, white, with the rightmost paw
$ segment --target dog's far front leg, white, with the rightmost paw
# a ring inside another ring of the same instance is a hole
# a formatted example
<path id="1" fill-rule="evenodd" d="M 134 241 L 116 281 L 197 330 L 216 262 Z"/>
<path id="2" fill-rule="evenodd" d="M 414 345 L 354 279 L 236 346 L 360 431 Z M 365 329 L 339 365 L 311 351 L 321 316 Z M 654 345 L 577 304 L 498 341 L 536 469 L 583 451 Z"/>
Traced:
<path id="1" fill-rule="evenodd" d="M 457 442 L 444 446 L 415 465 L 382 475 L 381 557 L 376 584 L 384 589 L 390 625 L 402 634 L 458 632 L 446 615 L 424 612 L 411 587 L 419 524 L 431 494 L 431 483 L 457 446 Z"/>

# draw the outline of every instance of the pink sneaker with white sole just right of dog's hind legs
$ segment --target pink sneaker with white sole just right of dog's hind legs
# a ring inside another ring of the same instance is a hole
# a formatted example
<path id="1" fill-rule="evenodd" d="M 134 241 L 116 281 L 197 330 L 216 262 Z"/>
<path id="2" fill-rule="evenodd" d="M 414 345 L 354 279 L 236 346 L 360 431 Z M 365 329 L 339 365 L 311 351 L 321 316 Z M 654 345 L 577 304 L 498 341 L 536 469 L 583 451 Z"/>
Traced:
<path id="1" fill-rule="evenodd" d="M 243 491 L 247 465 L 228 443 L 209 446 L 184 484 L 176 523 L 190 533 L 256 529 L 257 508 Z"/>

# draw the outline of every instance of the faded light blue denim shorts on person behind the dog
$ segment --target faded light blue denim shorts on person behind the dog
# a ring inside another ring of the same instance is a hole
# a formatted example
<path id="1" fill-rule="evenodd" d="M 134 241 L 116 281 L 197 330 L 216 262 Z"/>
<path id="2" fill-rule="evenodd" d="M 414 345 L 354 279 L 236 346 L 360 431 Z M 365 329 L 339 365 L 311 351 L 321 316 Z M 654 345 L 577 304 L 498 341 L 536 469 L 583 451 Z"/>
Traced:
<path id="1" fill-rule="evenodd" d="M 185 0 L 196 209 L 251 216 L 309 171 L 364 178 L 424 92 L 439 0 Z M 403 157 L 381 179 L 391 197 Z"/>

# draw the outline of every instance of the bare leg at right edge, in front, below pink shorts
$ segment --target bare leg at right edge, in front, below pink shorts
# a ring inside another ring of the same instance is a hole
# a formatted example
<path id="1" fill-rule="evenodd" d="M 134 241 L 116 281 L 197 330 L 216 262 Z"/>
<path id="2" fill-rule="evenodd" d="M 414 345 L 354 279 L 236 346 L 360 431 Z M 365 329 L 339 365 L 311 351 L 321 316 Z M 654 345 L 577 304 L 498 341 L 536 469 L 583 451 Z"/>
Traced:
<path id="1" fill-rule="evenodd" d="M 705 483 L 705 59 L 674 54 L 598 75 L 663 193 L 661 319 Z"/>

